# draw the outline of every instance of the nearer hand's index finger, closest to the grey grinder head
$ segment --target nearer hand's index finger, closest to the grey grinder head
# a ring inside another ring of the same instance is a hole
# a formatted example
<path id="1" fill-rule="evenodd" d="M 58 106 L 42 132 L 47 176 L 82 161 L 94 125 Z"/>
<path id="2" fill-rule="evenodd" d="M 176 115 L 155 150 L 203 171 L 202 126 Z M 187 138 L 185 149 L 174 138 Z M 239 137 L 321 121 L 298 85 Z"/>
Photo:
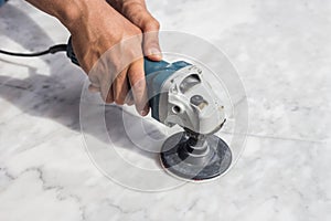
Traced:
<path id="1" fill-rule="evenodd" d="M 149 112 L 149 106 L 143 72 L 143 59 L 139 59 L 130 65 L 128 75 L 136 104 L 136 109 L 141 116 L 146 116 Z"/>

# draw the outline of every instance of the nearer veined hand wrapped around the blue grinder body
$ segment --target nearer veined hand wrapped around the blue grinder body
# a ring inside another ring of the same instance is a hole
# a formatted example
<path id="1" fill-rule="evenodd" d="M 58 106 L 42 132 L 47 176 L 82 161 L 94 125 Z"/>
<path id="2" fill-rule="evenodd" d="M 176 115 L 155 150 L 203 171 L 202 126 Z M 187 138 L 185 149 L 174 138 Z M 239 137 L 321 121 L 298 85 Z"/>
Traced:
<path id="1" fill-rule="evenodd" d="M 79 65 L 88 73 L 89 90 L 100 92 L 106 103 L 135 103 L 138 113 L 146 116 L 149 106 L 141 30 L 106 1 L 81 2 L 79 15 L 66 27 Z M 131 98 L 127 96 L 129 87 L 132 88 Z"/>

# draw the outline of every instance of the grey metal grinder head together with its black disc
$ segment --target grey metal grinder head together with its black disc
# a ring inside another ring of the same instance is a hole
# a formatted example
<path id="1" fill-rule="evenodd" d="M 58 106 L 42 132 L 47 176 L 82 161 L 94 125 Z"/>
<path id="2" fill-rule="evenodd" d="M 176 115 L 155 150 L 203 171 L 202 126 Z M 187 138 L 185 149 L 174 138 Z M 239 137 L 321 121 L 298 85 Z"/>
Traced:
<path id="1" fill-rule="evenodd" d="M 160 95 L 159 120 L 184 131 L 169 137 L 161 151 L 167 171 L 186 180 L 207 180 L 224 173 L 232 152 L 216 133 L 225 122 L 224 107 L 195 65 L 172 74 Z"/>

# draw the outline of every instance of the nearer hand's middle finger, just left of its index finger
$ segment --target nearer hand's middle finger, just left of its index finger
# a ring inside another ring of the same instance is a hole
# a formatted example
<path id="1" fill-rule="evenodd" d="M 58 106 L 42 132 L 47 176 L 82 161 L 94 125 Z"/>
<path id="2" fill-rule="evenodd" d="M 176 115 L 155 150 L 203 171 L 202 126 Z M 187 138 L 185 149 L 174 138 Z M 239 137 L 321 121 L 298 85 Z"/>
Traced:
<path id="1" fill-rule="evenodd" d="M 128 69 L 121 71 L 115 78 L 113 84 L 113 95 L 114 101 L 118 105 L 124 105 L 127 94 L 128 94 L 128 83 L 127 83 L 127 72 Z"/>

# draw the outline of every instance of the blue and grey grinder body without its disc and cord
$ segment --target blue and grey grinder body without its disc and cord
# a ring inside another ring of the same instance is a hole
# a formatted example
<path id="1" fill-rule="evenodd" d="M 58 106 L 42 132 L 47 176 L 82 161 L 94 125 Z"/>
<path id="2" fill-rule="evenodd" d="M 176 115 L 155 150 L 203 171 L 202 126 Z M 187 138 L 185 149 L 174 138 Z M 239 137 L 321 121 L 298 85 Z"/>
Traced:
<path id="1" fill-rule="evenodd" d="M 71 39 L 67 56 L 79 65 Z M 225 122 L 223 105 L 197 66 L 185 61 L 168 63 L 145 59 L 145 74 L 154 119 L 197 134 L 214 134 L 222 127 Z"/>

